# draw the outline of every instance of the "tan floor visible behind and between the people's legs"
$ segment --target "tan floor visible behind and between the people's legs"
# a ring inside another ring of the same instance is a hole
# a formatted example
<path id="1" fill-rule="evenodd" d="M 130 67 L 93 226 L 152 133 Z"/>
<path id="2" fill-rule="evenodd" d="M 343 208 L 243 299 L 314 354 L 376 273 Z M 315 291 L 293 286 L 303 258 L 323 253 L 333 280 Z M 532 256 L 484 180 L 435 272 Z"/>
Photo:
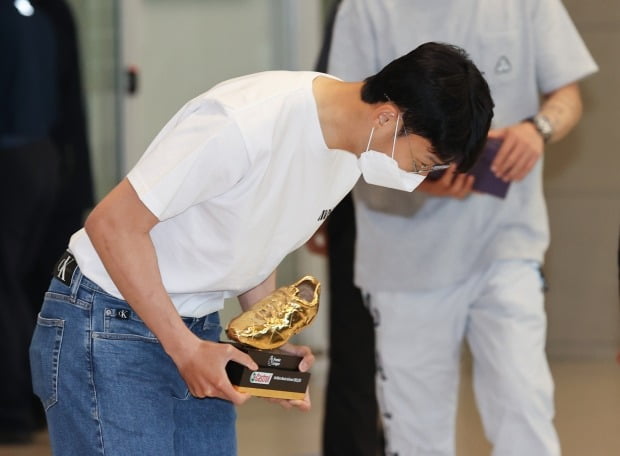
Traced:
<path id="1" fill-rule="evenodd" d="M 620 366 L 606 361 L 555 361 L 556 426 L 563 456 L 620 456 Z M 240 456 L 318 456 L 326 362 L 313 368 L 313 410 L 283 410 L 260 399 L 239 408 Z M 471 372 L 463 366 L 457 424 L 458 456 L 488 456 L 471 393 Z M 0 456 L 49 455 L 47 436 L 21 447 L 0 446 Z M 132 455 L 129 455 L 132 456 Z M 347 456 L 347 455 L 343 455 Z M 535 456 L 535 455 L 524 455 Z"/>

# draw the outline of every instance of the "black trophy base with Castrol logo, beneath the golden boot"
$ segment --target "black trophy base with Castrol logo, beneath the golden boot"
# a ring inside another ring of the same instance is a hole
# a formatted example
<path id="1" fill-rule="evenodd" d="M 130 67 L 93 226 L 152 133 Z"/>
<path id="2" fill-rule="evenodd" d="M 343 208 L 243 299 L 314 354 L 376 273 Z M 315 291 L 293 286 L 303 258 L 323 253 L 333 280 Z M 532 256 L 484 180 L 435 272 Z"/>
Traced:
<path id="1" fill-rule="evenodd" d="M 237 391 L 258 397 L 303 399 L 310 380 L 309 372 L 298 369 L 302 358 L 281 350 L 259 350 L 233 343 L 258 364 L 252 371 L 233 361 L 226 365 L 226 373 Z"/>

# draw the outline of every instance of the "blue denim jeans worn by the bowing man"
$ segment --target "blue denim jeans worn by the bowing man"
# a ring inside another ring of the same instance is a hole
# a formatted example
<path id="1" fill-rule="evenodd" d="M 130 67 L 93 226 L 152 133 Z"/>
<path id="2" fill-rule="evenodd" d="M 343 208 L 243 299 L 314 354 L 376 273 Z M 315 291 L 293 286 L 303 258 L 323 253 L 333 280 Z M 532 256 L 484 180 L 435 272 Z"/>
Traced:
<path id="1" fill-rule="evenodd" d="M 184 318 L 216 341 L 219 315 Z M 235 455 L 236 412 L 193 397 L 129 307 L 75 270 L 52 279 L 30 346 L 34 391 L 56 455 Z"/>

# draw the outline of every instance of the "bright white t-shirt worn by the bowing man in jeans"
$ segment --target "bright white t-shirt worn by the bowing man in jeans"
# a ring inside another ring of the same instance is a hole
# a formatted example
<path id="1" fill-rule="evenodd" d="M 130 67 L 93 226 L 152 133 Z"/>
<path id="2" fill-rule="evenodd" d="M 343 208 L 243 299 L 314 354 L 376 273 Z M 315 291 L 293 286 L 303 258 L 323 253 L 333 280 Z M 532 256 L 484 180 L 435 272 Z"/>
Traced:
<path id="1" fill-rule="evenodd" d="M 128 178 L 160 220 L 151 231 L 163 283 L 183 316 L 219 310 L 303 245 L 360 176 L 328 149 L 314 72 L 223 82 L 189 101 Z M 71 252 L 89 279 L 121 297 L 86 232 Z"/>

